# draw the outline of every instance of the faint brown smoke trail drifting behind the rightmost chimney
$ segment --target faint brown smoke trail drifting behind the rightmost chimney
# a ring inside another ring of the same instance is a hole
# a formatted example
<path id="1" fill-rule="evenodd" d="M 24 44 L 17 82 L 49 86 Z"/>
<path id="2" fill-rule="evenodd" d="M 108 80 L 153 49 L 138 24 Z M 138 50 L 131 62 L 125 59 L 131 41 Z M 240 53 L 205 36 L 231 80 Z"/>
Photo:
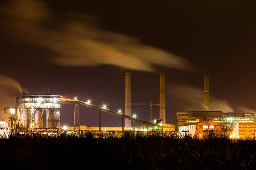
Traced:
<path id="1" fill-rule="evenodd" d="M 204 108 L 204 91 L 186 85 L 173 85 L 168 89 L 172 100 L 178 100 L 179 107 L 184 111 L 203 111 Z M 210 110 L 233 112 L 233 108 L 225 100 L 216 99 L 210 96 Z"/>

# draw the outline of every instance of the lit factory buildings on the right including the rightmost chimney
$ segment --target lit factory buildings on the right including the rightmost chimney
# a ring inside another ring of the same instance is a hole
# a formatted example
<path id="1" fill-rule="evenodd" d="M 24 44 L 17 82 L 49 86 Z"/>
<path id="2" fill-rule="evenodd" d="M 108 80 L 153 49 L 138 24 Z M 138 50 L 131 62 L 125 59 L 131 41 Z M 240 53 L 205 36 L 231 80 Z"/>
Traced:
<path id="1" fill-rule="evenodd" d="M 254 113 L 243 113 L 241 117 L 237 117 L 233 112 L 210 111 L 208 75 L 204 75 L 204 108 L 202 109 L 203 111 L 178 111 L 176 130 L 181 135 L 206 136 L 216 130 L 223 133 L 223 129 L 229 129 L 225 131 L 228 133 L 225 135 L 231 138 L 256 137 Z M 250 128 L 244 130 L 244 125 L 248 125 Z"/>

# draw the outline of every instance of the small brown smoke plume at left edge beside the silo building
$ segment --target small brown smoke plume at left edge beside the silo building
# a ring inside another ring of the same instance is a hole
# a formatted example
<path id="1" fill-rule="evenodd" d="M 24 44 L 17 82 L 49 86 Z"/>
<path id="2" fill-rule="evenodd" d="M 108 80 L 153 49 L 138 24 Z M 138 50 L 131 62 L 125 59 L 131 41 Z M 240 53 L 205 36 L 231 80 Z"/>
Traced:
<path id="1" fill-rule="evenodd" d="M 0 120 L 4 120 L 4 108 L 16 107 L 15 98 L 20 96 L 20 84 L 7 76 L 0 75 Z"/>

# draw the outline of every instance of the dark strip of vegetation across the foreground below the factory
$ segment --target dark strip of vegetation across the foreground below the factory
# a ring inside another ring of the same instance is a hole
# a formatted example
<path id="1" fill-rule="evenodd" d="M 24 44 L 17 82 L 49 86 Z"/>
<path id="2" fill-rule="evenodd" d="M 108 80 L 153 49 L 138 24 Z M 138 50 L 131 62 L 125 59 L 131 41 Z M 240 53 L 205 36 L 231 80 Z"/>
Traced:
<path id="1" fill-rule="evenodd" d="M 256 141 L 131 136 L 12 136 L 0 140 L 0 170 L 256 169 Z"/>

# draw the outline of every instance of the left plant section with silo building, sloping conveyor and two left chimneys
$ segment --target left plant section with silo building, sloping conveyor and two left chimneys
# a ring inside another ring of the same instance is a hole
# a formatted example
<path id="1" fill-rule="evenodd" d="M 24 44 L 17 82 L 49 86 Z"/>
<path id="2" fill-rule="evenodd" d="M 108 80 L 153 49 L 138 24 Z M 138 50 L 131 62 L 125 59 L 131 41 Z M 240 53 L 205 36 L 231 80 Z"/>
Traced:
<path id="1" fill-rule="evenodd" d="M 52 94 L 22 94 L 16 98 L 16 107 L 5 108 L 6 128 L 10 131 L 17 131 L 17 127 L 22 127 L 27 132 L 61 132 L 83 133 L 86 131 L 101 133 L 104 132 L 122 132 L 125 130 L 144 131 L 144 132 L 163 132 L 175 131 L 175 125 L 166 124 L 165 114 L 165 74 L 160 74 L 160 96 L 158 104 L 149 104 L 159 106 L 159 119 L 152 120 L 152 108 L 150 112 L 150 122 L 137 119 L 131 115 L 131 73 L 125 73 L 125 113 L 121 111 L 111 111 L 105 105 L 93 105 L 90 101 L 84 102 L 74 99 L 64 99 L 61 95 Z M 74 104 L 74 126 L 61 127 L 61 105 L 66 103 Z M 99 110 L 99 127 L 87 127 L 80 125 L 79 105 Z M 122 127 L 101 127 L 101 112 L 109 113 L 122 118 Z M 45 122 L 44 122 L 45 120 Z M 132 123 L 133 122 L 133 127 Z M 139 122 L 141 127 L 135 126 L 135 122 Z M 11 124 L 7 125 L 7 124 Z M 7 127 L 8 126 L 8 127 Z"/>

